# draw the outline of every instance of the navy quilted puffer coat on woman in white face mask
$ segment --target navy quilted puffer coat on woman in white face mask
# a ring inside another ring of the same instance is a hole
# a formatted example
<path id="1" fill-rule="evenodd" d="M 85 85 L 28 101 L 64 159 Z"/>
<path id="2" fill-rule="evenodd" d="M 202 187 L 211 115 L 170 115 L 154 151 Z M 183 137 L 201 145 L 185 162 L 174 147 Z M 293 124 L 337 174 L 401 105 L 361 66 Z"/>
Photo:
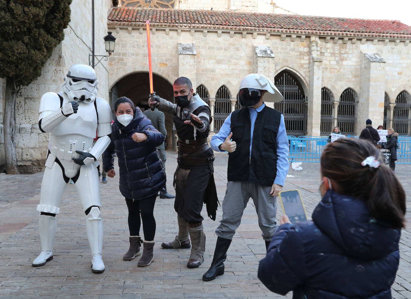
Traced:
<path id="1" fill-rule="evenodd" d="M 135 142 L 134 133 L 144 133 L 147 139 Z M 103 154 L 103 169 L 114 168 L 114 152 L 120 168 L 120 192 L 127 199 L 141 200 L 158 193 L 166 183 L 156 146 L 164 142 L 164 135 L 152 126 L 140 108 L 136 107 L 133 120 L 123 126 L 117 119 L 111 125 L 111 143 Z"/>

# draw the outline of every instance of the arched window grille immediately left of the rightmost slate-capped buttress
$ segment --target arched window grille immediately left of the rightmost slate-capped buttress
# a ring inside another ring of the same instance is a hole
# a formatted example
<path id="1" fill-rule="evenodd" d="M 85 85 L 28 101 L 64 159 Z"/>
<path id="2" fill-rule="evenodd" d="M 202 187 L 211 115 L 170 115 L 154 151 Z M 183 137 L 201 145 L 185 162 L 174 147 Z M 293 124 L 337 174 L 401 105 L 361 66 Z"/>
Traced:
<path id="1" fill-rule="evenodd" d="M 357 93 L 347 88 L 339 97 L 337 126 L 344 135 L 354 135 L 357 118 Z"/>

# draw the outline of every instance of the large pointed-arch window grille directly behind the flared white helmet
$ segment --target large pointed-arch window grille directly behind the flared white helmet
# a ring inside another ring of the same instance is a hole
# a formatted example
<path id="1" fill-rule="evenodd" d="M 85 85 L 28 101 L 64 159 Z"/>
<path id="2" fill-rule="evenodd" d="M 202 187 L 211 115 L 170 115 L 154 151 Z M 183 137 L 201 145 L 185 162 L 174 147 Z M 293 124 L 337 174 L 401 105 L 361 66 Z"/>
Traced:
<path id="1" fill-rule="evenodd" d="M 284 97 L 283 101 L 274 103 L 274 109 L 284 114 L 287 134 L 305 135 L 307 133 L 307 98 L 300 82 L 287 70 L 279 72 L 274 82 Z"/>

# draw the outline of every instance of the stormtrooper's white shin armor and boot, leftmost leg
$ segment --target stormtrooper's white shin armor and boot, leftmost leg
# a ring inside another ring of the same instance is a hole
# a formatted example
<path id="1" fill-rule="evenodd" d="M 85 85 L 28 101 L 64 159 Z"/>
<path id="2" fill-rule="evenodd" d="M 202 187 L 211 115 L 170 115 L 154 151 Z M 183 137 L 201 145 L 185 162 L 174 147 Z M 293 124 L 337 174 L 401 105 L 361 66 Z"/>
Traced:
<path id="1" fill-rule="evenodd" d="M 55 217 L 49 215 L 39 216 L 39 231 L 40 240 L 42 242 L 42 252 L 33 261 L 33 267 L 39 267 L 46 264 L 46 262 L 53 259 L 53 243 L 55 232 L 57 230 L 57 222 Z"/>

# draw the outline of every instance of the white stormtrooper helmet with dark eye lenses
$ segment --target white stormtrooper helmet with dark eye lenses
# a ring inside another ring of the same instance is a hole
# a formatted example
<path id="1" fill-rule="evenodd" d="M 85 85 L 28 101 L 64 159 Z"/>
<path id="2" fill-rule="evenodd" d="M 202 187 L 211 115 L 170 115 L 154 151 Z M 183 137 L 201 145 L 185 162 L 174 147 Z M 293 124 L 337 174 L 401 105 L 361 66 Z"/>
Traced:
<path id="1" fill-rule="evenodd" d="M 99 91 L 95 70 L 84 64 L 72 65 L 61 87 L 69 100 L 84 103 L 94 102 Z"/>

